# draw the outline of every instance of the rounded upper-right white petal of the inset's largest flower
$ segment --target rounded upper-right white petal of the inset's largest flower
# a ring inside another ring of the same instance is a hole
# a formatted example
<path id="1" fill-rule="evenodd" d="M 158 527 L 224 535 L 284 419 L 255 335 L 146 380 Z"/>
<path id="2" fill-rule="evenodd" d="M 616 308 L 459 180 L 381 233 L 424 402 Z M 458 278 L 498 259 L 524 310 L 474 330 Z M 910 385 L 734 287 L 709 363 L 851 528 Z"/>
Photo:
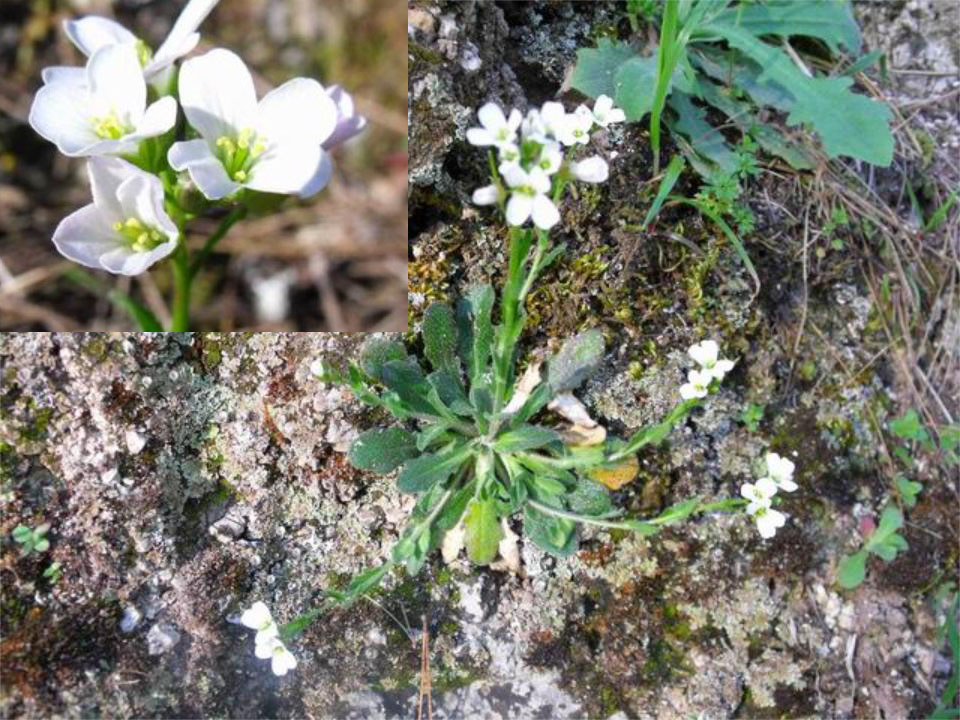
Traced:
<path id="1" fill-rule="evenodd" d="M 254 129 L 269 142 L 320 145 L 337 126 L 337 105 L 316 80 L 293 78 L 257 105 Z"/>

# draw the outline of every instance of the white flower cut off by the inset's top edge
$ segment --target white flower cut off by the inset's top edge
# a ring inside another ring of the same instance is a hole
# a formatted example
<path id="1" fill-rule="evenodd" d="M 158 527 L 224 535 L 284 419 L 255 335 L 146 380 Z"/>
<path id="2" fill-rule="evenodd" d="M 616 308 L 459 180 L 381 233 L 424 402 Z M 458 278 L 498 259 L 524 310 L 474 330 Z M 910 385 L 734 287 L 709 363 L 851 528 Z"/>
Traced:
<path id="1" fill-rule="evenodd" d="M 142 40 L 123 25 L 109 18 L 90 15 L 79 20 L 65 20 L 63 29 L 77 49 L 88 57 L 93 57 L 97 50 L 109 45 L 129 45 L 143 66 L 144 77 L 152 79 L 197 46 L 200 33 L 196 30 L 217 2 L 219 0 L 190 0 L 156 53 L 151 52 Z M 75 75 L 77 70 L 79 68 L 45 68 L 43 82 L 56 82 Z"/>

